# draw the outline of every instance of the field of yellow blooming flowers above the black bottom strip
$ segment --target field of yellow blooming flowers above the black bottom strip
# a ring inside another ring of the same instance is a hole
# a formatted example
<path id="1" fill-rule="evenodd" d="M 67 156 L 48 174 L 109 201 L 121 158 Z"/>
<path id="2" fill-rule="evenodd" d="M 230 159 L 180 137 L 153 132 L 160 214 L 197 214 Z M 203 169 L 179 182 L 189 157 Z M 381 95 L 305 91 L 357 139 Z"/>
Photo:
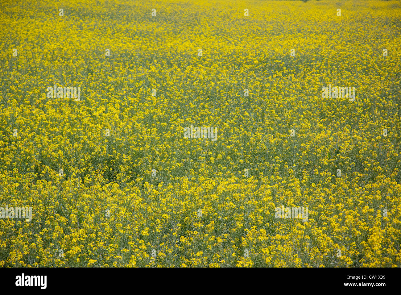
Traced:
<path id="1" fill-rule="evenodd" d="M 0 267 L 401 266 L 399 1 L 5 0 L 0 28 Z"/>

